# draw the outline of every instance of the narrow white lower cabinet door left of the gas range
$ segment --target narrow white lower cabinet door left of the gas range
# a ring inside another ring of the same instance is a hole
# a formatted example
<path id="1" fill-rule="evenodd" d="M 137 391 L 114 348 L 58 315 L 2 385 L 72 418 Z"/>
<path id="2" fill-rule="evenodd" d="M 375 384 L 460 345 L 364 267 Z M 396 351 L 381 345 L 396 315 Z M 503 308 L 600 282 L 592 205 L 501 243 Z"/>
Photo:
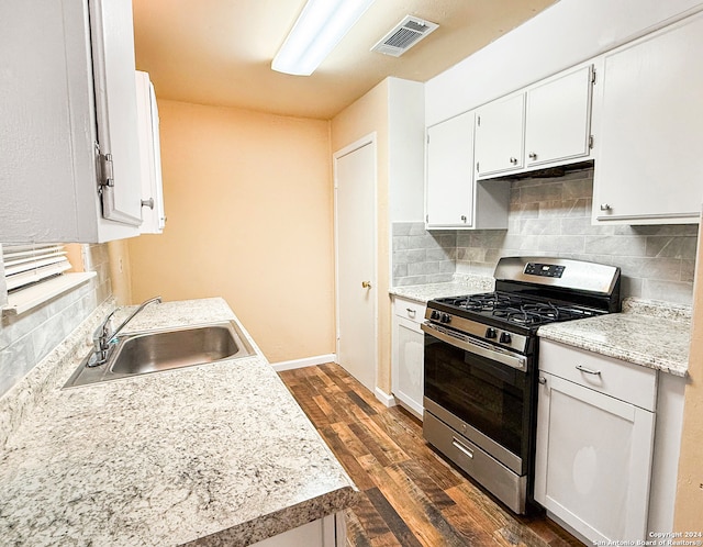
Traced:
<path id="1" fill-rule="evenodd" d="M 393 315 L 393 395 L 420 418 L 423 414 L 424 343 L 417 323 Z"/>

